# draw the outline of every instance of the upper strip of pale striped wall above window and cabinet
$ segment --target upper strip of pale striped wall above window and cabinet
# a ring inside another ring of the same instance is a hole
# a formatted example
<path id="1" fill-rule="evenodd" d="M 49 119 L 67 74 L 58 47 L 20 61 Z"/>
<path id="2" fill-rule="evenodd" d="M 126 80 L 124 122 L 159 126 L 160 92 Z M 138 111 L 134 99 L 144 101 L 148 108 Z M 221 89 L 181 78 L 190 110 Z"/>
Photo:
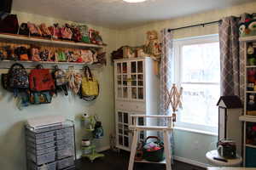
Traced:
<path id="1" fill-rule="evenodd" d="M 164 28 L 177 28 L 182 26 L 191 26 L 195 24 L 201 24 L 204 22 L 220 20 L 225 16 L 230 16 L 230 15 L 239 16 L 242 13 L 250 14 L 255 12 L 256 12 L 256 2 L 246 3 L 239 6 L 234 6 L 231 8 L 224 8 L 221 10 L 211 10 L 201 14 L 191 14 L 189 16 L 179 17 L 172 20 L 157 21 L 144 26 L 137 26 L 131 29 L 125 29 L 125 30 L 119 31 L 118 42 L 119 42 L 119 46 L 142 45 L 146 41 L 146 32 L 150 30 L 160 31 Z M 193 27 L 193 28 L 175 31 L 174 38 L 195 37 L 195 36 L 216 34 L 216 33 L 218 33 L 218 24 L 215 24 L 212 26 L 205 26 L 205 27 Z"/>

